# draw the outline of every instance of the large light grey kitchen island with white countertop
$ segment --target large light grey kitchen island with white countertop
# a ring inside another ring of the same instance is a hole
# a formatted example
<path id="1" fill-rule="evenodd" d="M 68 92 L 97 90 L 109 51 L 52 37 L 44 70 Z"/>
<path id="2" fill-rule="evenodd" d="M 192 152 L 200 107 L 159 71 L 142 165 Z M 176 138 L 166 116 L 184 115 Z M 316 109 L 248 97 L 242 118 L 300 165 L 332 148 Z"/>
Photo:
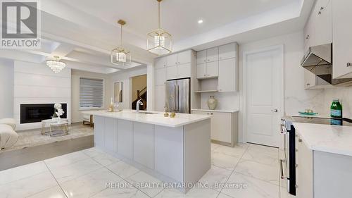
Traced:
<path id="1" fill-rule="evenodd" d="M 198 182 L 210 169 L 211 116 L 85 111 L 94 115 L 94 146 L 162 180 Z M 180 187 L 187 192 L 188 187 Z"/>

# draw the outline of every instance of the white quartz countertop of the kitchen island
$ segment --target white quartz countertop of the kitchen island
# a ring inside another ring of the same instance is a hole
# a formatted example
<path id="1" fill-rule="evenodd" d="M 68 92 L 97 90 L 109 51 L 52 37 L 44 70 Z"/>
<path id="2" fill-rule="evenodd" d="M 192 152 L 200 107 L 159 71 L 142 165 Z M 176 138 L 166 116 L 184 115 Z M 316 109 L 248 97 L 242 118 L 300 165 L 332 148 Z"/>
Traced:
<path id="1" fill-rule="evenodd" d="M 153 124 L 153 125 L 163 125 L 171 128 L 177 128 L 183 125 L 197 123 L 201 120 L 206 120 L 211 118 L 211 116 L 188 114 L 188 113 L 176 113 L 175 118 L 170 118 L 170 117 L 164 117 L 163 112 L 156 112 L 156 111 L 148 111 L 148 112 L 153 112 L 156 114 L 136 113 L 136 111 L 132 111 L 132 110 L 123 110 L 120 112 L 82 111 L 82 113 L 89 113 L 94 116 L 117 118 L 122 120 L 130 120 L 134 122 L 147 123 L 147 124 Z"/>

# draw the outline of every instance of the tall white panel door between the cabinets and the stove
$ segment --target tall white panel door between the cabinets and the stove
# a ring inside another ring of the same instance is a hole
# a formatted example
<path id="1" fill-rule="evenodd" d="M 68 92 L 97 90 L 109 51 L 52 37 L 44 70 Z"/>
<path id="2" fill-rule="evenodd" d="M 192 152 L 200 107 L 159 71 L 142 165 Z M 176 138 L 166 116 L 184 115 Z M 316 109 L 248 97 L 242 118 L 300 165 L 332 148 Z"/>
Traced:
<path id="1" fill-rule="evenodd" d="M 247 142 L 280 146 L 277 125 L 282 111 L 283 49 L 271 47 L 244 54 Z"/>

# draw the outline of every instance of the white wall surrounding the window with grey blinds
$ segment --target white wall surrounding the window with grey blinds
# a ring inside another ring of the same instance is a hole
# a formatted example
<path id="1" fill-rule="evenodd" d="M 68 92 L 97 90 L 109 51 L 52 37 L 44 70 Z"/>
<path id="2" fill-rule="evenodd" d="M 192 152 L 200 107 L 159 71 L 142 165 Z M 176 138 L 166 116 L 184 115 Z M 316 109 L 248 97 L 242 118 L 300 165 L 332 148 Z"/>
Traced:
<path id="1" fill-rule="evenodd" d="M 72 108 L 71 108 L 71 116 L 72 116 L 72 122 L 77 123 L 81 122 L 82 119 L 82 111 L 80 110 L 80 77 L 84 78 L 98 78 L 98 79 L 103 79 L 104 80 L 104 106 L 102 109 L 108 109 L 108 106 L 110 104 L 110 99 L 113 96 L 112 95 L 112 88 L 111 88 L 111 81 L 108 75 L 106 74 L 101 74 L 101 73 L 92 73 L 92 72 L 86 72 L 86 71 L 81 71 L 81 70 L 72 70 L 72 75 L 71 75 L 71 103 L 72 103 Z"/>

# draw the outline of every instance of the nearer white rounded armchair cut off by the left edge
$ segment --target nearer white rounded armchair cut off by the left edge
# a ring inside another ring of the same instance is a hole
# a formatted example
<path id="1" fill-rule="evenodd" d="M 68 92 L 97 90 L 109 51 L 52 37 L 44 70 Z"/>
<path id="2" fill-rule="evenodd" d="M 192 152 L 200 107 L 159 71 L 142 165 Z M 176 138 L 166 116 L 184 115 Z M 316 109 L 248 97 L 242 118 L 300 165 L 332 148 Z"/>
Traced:
<path id="1" fill-rule="evenodd" d="M 0 149 L 12 147 L 18 140 L 18 134 L 11 125 L 0 124 Z"/>

